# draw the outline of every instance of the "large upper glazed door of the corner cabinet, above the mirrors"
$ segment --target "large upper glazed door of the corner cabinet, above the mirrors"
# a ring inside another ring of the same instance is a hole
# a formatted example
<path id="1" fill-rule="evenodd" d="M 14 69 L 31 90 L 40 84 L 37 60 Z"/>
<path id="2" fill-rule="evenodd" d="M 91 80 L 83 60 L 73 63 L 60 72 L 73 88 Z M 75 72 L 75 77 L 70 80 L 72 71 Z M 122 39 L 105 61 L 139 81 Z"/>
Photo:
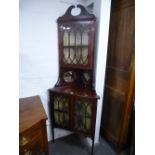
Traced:
<path id="1" fill-rule="evenodd" d="M 94 35 L 93 22 L 66 22 L 60 24 L 61 64 L 63 66 L 90 67 Z"/>

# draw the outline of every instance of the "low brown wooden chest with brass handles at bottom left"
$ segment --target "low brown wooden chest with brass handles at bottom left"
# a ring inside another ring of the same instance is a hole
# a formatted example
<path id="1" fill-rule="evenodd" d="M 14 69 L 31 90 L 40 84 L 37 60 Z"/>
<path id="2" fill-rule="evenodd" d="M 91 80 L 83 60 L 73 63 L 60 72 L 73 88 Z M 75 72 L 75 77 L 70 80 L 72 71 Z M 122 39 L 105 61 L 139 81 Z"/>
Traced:
<path id="1" fill-rule="evenodd" d="M 46 119 L 39 96 L 19 100 L 20 155 L 48 155 Z"/>

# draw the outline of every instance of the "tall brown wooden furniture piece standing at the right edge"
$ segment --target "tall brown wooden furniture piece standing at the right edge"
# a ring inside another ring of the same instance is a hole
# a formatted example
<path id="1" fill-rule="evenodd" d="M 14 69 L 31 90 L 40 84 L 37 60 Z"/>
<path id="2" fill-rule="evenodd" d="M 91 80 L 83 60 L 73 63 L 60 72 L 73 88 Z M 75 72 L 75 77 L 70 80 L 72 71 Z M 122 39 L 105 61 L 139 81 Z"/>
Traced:
<path id="1" fill-rule="evenodd" d="M 134 0 L 112 0 L 101 134 L 121 151 L 134 103 Z"/>

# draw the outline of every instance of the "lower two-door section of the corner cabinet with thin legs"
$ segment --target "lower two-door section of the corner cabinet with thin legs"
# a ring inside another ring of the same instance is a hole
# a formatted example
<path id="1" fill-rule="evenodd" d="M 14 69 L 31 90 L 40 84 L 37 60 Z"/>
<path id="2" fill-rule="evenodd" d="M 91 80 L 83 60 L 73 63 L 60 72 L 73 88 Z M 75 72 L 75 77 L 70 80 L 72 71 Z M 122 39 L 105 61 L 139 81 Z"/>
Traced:
<path id="1" fill-rule="evenodd" d="M 90 137 L 94 146 L 97 97 L 49 90 L 53 141 L 54 128 L 62 128 Z"/>

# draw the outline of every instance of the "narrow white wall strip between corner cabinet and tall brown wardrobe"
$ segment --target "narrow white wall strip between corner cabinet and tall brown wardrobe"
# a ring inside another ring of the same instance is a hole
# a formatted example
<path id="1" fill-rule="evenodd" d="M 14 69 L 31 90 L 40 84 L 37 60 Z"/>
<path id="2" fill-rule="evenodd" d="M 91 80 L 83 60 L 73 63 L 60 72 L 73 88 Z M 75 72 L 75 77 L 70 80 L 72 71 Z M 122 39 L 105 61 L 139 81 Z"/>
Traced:
<path id="1" fill-rule="evenodd" d="M 97 106 L 95 143 L 99 142 L 104 79 L 106 69 L 108 33 L 110 21 L 111 0 L 87 0 L 87 5 L 94 2 L 94 14 L 97 18 L 97 34 L 96 34 L 96 91 L 100 96 Z"/>

